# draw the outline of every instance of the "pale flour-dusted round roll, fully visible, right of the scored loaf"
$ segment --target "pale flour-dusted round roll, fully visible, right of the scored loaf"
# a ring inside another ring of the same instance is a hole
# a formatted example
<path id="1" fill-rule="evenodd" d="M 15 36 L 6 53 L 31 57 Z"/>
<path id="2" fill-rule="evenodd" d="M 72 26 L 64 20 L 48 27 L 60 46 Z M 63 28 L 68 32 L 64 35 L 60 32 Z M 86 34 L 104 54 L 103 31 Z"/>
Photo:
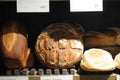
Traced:
<path id="1" fill-rule="evenodd" d="M 84 52 L 80 67 L 85 71 L 112 71 L 116 66 L 108 51 L 92 48 Z"/>

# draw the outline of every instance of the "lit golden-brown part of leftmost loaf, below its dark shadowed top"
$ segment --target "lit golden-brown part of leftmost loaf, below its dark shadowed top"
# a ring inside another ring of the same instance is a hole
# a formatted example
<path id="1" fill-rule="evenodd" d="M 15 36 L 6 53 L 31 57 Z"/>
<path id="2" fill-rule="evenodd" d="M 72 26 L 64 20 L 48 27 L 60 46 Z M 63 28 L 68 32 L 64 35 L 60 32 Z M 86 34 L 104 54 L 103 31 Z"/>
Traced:
<path id="1" fill-rule="evenodd" d="M 21 34 L 8 33 L 3 35 L 2 42 L 4 64 L 10 69 L 26 67 L 26 61 L 30 54 L 30 49 L 26 49 L 26 38 Z"/>

